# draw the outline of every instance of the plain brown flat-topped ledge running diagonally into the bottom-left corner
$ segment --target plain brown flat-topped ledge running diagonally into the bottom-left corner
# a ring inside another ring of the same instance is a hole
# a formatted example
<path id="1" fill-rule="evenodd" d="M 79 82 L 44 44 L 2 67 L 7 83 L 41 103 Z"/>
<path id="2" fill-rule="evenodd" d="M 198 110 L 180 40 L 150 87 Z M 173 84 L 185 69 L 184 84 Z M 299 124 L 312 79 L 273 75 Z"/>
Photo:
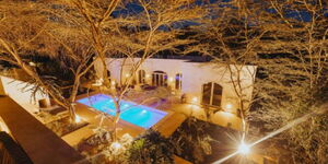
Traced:
<path id="1" fill-rule="evenodd" d="M 14 101 L 0 97 L 0 116 L 34 164 L 71 164 L 83 157 Z"/>

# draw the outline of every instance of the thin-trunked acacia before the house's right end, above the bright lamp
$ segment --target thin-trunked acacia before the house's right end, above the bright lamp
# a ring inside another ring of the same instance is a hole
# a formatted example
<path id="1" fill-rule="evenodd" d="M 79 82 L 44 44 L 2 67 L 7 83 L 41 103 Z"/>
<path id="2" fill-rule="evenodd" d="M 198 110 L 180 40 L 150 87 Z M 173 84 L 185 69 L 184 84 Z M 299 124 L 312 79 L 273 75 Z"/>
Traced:
<path id="1" fill-rule="evenodd" d="M 211 57 L 211 62 L 224 67 L 224 73 L 229 74 L 236 101 L 234 108 L 242 119 L 242 142 L 247 132 L 247 115 L 253 104 L 251 93 L 257 59 L 256 48 L 260 37 L 265 34 L 257 27 L 250 27 L 254 13 L 249 12 L 246 1 L 230 1 L 212 3 L 209 19 L 202 21 L 201 26 L 195 27 L 198 39 L 186 52 L 197 51 L 200 55 Z M 226 5 L 223 8 L 222 5 Z M 255 5 L 256 7 L 256 5 Z M 253 8 L 255 10 L 255 8 Z"/>

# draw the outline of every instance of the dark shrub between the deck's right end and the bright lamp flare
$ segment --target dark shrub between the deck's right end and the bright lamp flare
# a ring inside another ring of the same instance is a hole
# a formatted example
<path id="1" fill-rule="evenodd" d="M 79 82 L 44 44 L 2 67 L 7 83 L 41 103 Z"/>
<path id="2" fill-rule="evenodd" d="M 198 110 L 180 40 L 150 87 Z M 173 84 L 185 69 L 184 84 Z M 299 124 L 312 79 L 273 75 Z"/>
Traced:
<path id="1" fill-rule="evenodd" d="M 212 153 L 208 122 L 188 118 L 171 137 L 175 153 L 192 163 L 202 163 Z"/>

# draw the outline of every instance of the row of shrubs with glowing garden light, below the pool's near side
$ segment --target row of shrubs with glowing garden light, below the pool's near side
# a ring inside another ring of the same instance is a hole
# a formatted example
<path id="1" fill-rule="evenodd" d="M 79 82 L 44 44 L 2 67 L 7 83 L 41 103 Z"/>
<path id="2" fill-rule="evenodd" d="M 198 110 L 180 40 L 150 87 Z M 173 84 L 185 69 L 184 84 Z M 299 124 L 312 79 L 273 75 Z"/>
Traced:
<path id="1" fill-rule="evenodd" d="M 173 144 L 157 131 L 150 129 L 136 139 L 124 134 L 117 141 L 109 137 L 109 131 L 99 128 L 94 136 L 81 141 L 78 150 L 92 163 L 174 163 Z"/>

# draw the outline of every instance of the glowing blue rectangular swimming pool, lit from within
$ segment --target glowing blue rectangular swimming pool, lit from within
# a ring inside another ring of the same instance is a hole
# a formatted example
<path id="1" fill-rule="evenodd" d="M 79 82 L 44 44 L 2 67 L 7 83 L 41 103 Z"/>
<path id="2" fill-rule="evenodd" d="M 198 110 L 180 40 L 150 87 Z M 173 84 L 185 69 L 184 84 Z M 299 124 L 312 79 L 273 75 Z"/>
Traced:
<path id="1" fill-rule="evenodd" d="M 96 94 L 78 101 L 81 104 L 93 107 L 99 112 L 115 116 L 115 104 L 113 99 L 104 94 Z M 167 113 L 157 110 L 143 105 L 137 105 L 131 102 L 120 101 L 120 119 L 142 128 L 150 128 L 164 118 Z"/>

